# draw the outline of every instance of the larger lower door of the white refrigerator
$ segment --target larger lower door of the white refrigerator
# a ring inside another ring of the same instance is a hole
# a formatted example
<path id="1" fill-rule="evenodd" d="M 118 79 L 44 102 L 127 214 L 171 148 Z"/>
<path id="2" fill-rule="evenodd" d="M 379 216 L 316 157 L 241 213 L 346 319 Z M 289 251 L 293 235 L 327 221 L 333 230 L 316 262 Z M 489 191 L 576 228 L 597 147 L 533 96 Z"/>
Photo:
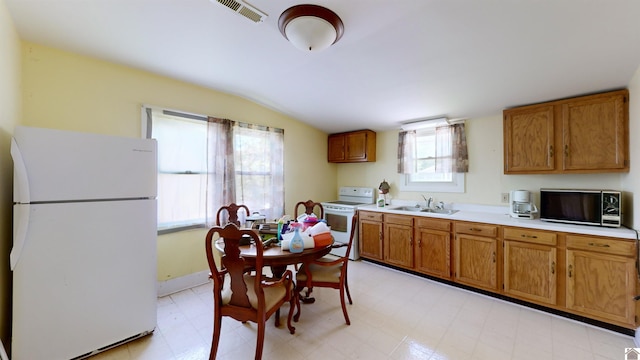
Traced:
<path id="1" fill-rule="evenodd" d="M 13 271 L 12 359 L 71 359 L 153 331 L 155 199 L 14 206 L 28 219 Z"/>

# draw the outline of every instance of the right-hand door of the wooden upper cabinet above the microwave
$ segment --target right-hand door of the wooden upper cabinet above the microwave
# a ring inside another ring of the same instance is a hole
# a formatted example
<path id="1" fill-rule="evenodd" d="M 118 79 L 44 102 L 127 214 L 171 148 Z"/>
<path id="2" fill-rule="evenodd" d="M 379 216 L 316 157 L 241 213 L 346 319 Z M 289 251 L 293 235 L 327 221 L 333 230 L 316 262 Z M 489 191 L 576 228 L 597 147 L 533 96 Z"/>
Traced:
<path id="1" fill-rule="evenodd" d="M 628 170 L 626 93 L 562 106 L 563 170 Z"/>

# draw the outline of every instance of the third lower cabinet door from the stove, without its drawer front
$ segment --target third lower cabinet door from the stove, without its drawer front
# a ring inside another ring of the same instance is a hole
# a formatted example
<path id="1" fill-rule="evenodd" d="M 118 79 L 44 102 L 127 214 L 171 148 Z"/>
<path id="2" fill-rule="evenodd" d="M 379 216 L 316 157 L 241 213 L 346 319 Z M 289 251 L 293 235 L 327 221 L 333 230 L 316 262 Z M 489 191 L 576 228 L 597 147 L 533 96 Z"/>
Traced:
<path id="1" fill-rule="evenodd" d="M 444 279 L 451 278 L 451 235 L 449 232 L 416 229 L 416 270 Z"/>

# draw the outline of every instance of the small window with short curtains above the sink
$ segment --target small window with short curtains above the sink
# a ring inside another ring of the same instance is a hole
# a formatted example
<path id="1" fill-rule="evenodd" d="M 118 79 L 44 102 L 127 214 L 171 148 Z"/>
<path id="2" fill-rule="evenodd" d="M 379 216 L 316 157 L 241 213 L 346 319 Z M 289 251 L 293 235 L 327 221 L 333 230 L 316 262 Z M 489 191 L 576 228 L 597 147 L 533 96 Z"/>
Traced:
<path id="1" fill-rule="evenodd" d="M 400 190 L 464 192 L 464 172 L 454 171 L 456 161 L 460 161 L 456 135 L 453 126 L 422 127 L 401 132 Z M 464 143 L 466 155 L 466 141 Z"/>

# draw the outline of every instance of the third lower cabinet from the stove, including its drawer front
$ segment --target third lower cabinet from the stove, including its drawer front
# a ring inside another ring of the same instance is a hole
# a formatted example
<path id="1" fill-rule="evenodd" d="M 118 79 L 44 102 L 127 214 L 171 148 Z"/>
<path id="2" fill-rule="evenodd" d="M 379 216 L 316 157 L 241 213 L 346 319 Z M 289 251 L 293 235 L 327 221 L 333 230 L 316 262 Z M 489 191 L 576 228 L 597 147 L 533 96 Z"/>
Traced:
<path id="1" fill-rule="evenodd" d="M 451 221 L 416 218 L 415 234 L 416 271 L 451 279 Z"/>

